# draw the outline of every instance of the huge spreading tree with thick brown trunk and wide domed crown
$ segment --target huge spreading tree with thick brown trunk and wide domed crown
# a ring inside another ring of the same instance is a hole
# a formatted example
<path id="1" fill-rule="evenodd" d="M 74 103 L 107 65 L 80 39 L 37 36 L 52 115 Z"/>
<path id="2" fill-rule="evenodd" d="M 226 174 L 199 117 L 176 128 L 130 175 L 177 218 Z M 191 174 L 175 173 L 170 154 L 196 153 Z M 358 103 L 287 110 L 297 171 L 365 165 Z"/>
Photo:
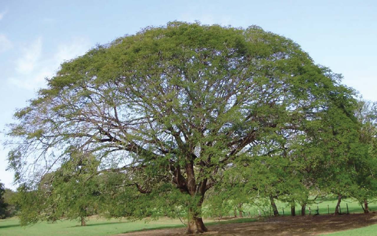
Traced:
<path id="1" fill-rule="evenodd" d="M 30 183 L 74 146 L 97 158 L 97 174 L 129 175 L 123 187 L 151 199 L 164 189 L 166 202 L 186 210 L 189 233 L 207 231 L 206 191 L 266 137 L 326 110 L 329 96 L 349 98 L 338 79 L 292 40 L 257 26 L 146 28 L 64 62 L 15 114 L 9 165 Z M 141 207 L 124 214 L 149 213 Z"/>

